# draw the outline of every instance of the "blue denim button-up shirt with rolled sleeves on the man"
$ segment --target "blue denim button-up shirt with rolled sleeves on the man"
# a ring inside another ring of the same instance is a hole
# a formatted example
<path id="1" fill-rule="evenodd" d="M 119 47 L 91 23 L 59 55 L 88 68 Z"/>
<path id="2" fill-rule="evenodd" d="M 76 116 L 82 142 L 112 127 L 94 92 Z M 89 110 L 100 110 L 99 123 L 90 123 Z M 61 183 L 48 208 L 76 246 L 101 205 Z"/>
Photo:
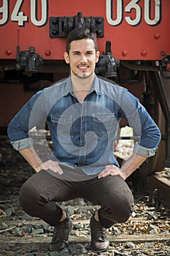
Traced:
<path id="1" fill-rule="evenodd" d="M 147 110 L 121 86 L 95 76 L 83 102 L 72 91 L 71 78 L 38 91 L 12 119 L 8 135 L 12 146 L 22 150 L 33 146 L 28 131 L 47 122 L 53 140 L 53 159 L 80 167 L 87 175 L 106 165 L 117 165 L 114 142 L 121 118 L 139 136 L 134 152 L 152 157 L 161 139 Z"/>

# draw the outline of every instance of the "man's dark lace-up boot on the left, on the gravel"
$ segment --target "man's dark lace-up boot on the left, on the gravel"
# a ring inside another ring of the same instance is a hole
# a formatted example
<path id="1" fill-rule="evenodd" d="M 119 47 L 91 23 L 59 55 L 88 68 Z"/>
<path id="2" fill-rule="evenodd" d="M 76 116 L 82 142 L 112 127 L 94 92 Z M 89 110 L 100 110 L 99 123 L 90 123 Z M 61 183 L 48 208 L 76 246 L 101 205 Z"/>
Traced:
<path id="1" fill-rule="evenodd" d="M 50 251 L 61 251 L 69 246 L 68 239 L 69 233 L 72 230 L 72 219 L 69 218 L 68 214 L 63 222 L 59 222 L 54 227 L 53 238 L 50 243 Z"/>

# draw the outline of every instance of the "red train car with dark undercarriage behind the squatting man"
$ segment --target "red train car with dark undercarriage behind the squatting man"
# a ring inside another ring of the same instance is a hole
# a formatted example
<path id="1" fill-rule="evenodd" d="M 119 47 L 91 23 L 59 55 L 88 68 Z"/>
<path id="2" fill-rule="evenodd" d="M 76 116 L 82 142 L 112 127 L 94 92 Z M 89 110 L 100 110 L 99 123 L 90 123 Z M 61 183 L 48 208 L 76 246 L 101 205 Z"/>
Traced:
<path id="1" fill-rule="evenodd" d="M 1 134 L 35 91 L 69 75 L 66 37 L 87 26 L 101 53 L 96 74 L 139 97 L 161 129 L 148 169 L 170 166 L 169 10 L 169 0 L 0 0 Z"/>

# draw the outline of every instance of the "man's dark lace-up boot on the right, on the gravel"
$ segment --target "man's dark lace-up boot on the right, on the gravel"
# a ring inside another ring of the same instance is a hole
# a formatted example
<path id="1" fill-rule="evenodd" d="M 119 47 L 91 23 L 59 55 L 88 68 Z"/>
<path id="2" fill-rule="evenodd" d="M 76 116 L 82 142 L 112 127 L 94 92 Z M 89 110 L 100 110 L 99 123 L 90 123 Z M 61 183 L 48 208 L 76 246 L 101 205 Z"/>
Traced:
<path id="1" fill-rule="evenodd" d="M 109 239 L 107 237 L 107 228 L 101 226 L 100 222 L 91 217 L 90 219 L 91 230 L 91 244 L 90 247 L 93 252 L 104 252 L 109 246 Z"/>

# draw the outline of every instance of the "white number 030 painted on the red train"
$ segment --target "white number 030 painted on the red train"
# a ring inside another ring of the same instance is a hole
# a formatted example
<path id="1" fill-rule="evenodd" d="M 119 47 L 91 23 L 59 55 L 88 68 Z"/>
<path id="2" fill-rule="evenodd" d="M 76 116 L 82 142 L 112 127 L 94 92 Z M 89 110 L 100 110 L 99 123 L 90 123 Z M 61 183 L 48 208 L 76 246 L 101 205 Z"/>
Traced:
<path id="1" fill-rule="evenodd" d="M 125 17 L 125 21 L 131 26 L 138 26 L 142 21 L 142 15 L 144 15 L 144 21 L 149 26 L 157 26 L 161 23 L 161 0 L 142 0 L 144 2 L 144 14 L 142 13 L 142 7 L 139 5 L 141 0 L 131 0 L 125 7 L 123 6 L 123 0 L 106 1 L 107 21 L 112 26 L 118 26 L 123 22 L 124 10 L 125 14 L 128 14 L 128 16 Z M 133 18 L 131 18 L 132 11 L 135 13 L 135 17 Z M 154 13 L 154 17 L 152 18 L 151 11 Z M 113 17 L 113 14 L 115 17 Z"/>

